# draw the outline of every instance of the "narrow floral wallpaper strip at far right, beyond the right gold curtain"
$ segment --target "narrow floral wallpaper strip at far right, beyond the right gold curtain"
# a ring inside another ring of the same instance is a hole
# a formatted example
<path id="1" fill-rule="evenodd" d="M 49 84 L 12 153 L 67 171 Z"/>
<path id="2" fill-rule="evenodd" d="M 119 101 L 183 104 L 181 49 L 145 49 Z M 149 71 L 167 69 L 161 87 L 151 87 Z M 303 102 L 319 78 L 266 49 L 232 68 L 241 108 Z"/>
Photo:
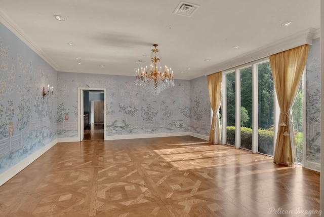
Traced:
<path id="1" fill-rule="evenodd" d="M 319 38 L 313 40 L 306 62 L 306 161 L 320 164 Z"/>

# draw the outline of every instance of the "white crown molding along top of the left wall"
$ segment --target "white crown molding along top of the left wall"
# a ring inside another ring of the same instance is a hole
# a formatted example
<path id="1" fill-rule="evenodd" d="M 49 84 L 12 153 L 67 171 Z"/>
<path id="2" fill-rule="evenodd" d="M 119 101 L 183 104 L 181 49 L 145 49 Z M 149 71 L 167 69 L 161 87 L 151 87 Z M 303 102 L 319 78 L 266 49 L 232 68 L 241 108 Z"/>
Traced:
<path id="1" fill-rule="evenodd" d="M 0 7 L 0 22 L 4 24 L 12 33 L 14 33 L 23 43 L 25 43 L 31 50 L 33 50 L 38 56 L 50 64 L 56 71 L 58 71 L 58 65 L 47 56 L 41 48 L 39 48 L 28 36 L 26 31 L 16 24 L 14 19 Z"/>

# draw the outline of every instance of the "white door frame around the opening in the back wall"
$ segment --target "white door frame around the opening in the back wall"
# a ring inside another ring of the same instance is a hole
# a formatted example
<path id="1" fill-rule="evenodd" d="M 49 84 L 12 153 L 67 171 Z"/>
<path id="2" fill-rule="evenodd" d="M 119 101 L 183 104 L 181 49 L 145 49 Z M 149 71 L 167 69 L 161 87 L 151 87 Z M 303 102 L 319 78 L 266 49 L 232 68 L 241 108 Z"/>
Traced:
<path id="1" fill-rule="evenodd" d="M 78 87 L 77 88 L 77 115 L 78 115 L 78 121 L 77 121 L 77 138 L 79 141 L 83 140 L 84 133 L 84 121 L 83 121 L 83 116 L 84 116 L 84 101 L 83 101 L 83 91 L 84 90 L 100 90 L 103 91 L 103 132 L 104 136 L 103 139 L 107 140 L 106 136 L 106 88 L 90 88 L 90 87 Z M 82 98 L 81 98 L 82 97 Z"/>

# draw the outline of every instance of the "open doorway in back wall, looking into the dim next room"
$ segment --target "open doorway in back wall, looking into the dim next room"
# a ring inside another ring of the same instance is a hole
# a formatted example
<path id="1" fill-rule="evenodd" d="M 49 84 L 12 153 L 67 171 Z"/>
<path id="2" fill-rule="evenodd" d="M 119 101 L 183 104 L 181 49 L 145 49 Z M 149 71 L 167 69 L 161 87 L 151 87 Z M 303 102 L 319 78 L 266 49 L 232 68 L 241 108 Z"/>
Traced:
<path id="1" fill-rule="evenodd" d="M 78 137 L 83 140 L 105 139 L 106 89 L 78 88 Z"/>

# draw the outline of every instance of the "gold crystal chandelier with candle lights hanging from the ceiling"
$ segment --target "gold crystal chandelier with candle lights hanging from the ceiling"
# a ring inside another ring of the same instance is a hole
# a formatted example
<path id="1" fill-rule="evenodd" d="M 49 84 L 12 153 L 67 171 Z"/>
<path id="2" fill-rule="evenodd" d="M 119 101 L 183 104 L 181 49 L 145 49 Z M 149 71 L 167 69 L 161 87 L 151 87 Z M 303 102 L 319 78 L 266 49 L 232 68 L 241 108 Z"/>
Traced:
<path id="1" fill-rule="evenodd" d="M 151 65 L 150 71 L 147 73 L 147 66 L 142 67 L 141 70 L 136 70 L 136 85 L 139 85 L 154 95 L 158 95 L 161 91 L 174 86 L 173 71 L 167 66 L 164 67 L 164 72 L 160 66 L 160 52 L 156 49 L 157 45 L 154 44 L 154 49 L 151 50 Z"/>

